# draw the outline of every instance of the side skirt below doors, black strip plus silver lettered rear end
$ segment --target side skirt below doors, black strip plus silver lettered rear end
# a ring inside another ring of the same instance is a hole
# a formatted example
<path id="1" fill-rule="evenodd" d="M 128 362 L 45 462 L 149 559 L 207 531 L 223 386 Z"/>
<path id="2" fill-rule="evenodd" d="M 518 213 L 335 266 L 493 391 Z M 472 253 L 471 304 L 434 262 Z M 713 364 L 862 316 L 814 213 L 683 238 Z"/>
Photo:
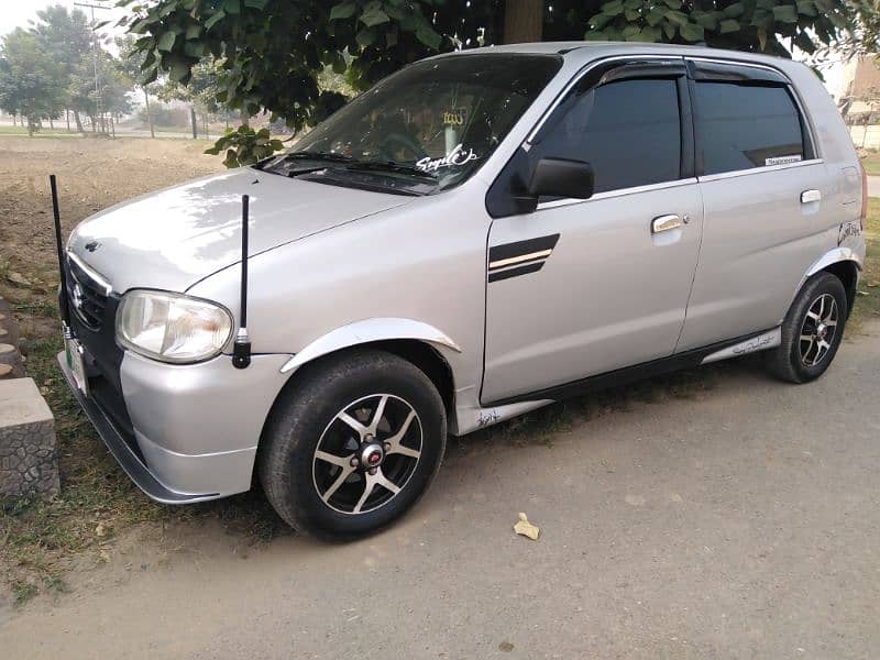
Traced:
<path id="1" fill-rule="evenodd" d="M 581 378 L 563 385 L 554 385 L 538 392 L 518 394 L 506 397 L 490 404 L 484 404 L 484 409 L 492 409 L 510 404 L 524 402 L 542 402 L 547 399 L 560 400 L 585 394 L 592 394 L 601 389 L 619 387 L 628 383 L 659 376 L 682 369 L 693 369 L 708 362 L 717 362 L 728 358 L 739 358 L 748 353 L 772 349 L 781 343 L 782 332 L 779 328 L 763 330 L 752 334 L 737 337 L 727 341 L 721 341 L 701 349 L 693 349 L 682 353 L 675 353 L 669 358 L 651 360 L 632 366 L 626 366 L 604 374 Z"/>

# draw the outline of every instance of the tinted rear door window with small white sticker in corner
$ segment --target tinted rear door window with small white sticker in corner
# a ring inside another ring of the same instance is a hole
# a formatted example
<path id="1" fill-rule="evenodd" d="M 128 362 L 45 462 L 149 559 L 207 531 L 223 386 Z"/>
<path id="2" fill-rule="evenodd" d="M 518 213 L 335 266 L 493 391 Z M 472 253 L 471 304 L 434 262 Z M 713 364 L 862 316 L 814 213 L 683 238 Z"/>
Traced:
<path id="1" fill-rule="evenodd" d="M 704 174 L 805 158 L 801 117 L 784 86 L 695 81 L 693 88 Z"/>

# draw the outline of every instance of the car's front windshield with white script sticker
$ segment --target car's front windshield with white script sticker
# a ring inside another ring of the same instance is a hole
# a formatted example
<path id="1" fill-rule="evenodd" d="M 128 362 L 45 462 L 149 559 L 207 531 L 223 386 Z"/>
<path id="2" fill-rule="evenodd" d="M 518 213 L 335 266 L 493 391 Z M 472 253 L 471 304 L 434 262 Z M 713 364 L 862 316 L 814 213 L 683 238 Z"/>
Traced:
<path id="1" fill-rule="evenodd" d="M 560 65 L 553 55 L 508 53 L 419 62 L 359 96 L 267 168 L 342 185 L 369 173 L 397 187 L 408 179 L 422 191 L 450 188 L 486 161 Z"/>

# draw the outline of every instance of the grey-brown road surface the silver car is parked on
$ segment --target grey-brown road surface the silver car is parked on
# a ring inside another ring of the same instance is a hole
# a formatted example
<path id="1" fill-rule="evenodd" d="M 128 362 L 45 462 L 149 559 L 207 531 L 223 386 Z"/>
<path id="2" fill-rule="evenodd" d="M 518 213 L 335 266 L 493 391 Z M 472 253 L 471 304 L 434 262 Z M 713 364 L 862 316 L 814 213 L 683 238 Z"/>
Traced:
<path id="1" fill-rule="evenodd" d="M 811 385 L 730 363 L 690 398 L 519 446 L 454 443 L 422 503 L 365 541 L 253 547 L 213 521 L 142 526 L 70 594 L 0 612 L 0 648 L 16 660 L 876 658 L 880 324 L 868 331 Z M 537 542 L 513 534 L 519 510 Z"/>

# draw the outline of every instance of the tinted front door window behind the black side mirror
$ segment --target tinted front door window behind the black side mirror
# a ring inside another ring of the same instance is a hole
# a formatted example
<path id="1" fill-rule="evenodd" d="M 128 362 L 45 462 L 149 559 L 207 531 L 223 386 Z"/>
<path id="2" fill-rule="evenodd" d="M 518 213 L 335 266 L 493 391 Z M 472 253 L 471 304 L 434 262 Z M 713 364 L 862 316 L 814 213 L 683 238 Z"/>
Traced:
<path id="1" fill-rule="evenodd" d="M 674 79 L 618 80 L 574 94 L 540 145 L 542 156 L 588 162 L 595 193 L 679 178 L 681 121 Z"/>

